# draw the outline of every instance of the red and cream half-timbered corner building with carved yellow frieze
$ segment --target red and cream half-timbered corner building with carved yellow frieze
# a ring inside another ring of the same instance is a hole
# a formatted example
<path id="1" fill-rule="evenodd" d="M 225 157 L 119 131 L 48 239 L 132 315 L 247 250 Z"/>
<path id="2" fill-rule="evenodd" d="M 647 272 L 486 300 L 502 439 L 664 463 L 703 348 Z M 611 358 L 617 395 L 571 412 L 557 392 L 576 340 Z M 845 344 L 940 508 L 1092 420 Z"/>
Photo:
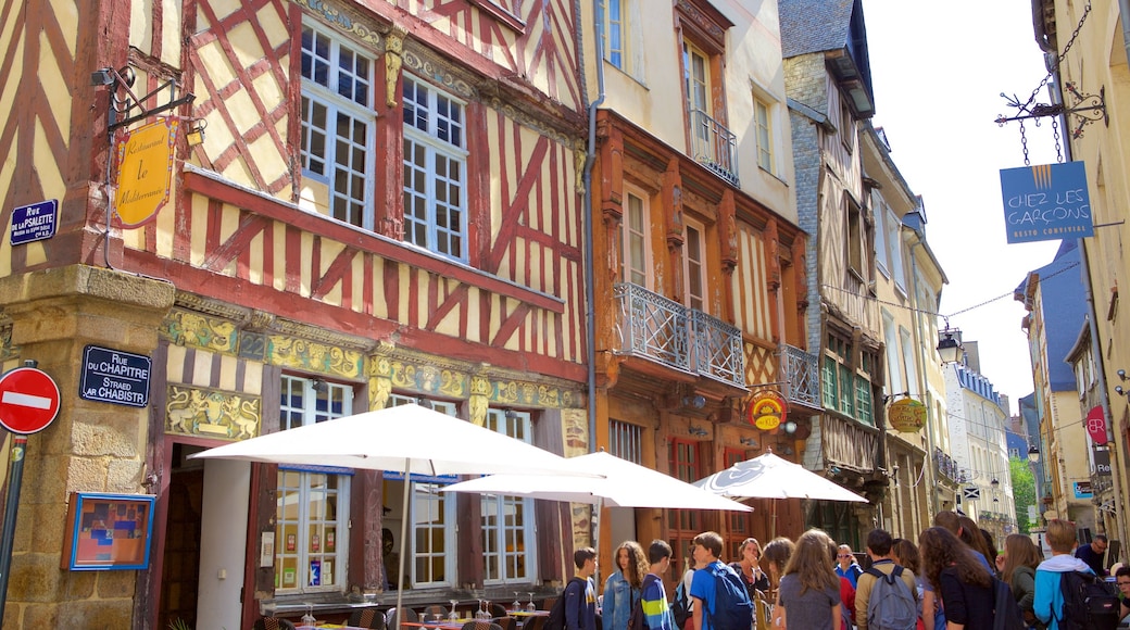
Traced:
<path id="1" fill-rule="evenodd" d="M 189 455 L 409 401 L 589 449 L 576 10 L 0 2 L 2 358 L 62 391 L 28 440 L 5 627 L 246 628 L 397 586 L 510 601 L 567 577 L 588 540 L 567 505 Z M 687 195 L 715 239 L 751 205 L 720 184 Z M 44 201 L 52 234 L 15 238 Z M 148 367 L 107 377 L 129 395 L 92 394 L 92 351 Z M 712 400 L 738 388 L 730 369 Z M 146 568 L 68 568 L 76 492 L 156 497 Z M 397 575 L 382 532 L 402 519 Z"/>

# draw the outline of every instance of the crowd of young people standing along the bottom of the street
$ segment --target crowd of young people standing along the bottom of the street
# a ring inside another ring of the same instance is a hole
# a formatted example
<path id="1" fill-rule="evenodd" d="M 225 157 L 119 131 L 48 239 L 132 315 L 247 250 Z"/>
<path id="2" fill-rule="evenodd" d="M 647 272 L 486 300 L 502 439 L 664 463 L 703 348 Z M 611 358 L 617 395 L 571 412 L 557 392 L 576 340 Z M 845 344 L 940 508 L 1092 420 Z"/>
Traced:
<path id="1" fill-rule="evenodd" d="M 851 546 L 837 545 L 819 530 L 805 532 L 796 542 L 773 539 L 764 549 L 756 539 L 746 539 L 739 559 L 729 565 L 721 560 L 722 537 L 704 532 L 692 543 L 693 568 L 670 604 L 662 580 L 671 563 L 670 545 L 653 541 L 645 552 L 628 541 L 617 548 L 616 570 L 605 583 L 602 627 L 749 630 L 760 601 L 774 630 L 991 630 L 994 616 L 1005 614 L 998 594 L 1009 593 L 1024 628 L 1095 628 L 1090 618 L 1072 618 L 1083 613 L 1066 601 L 1061 580 L 1076 572 L 1086 583 L 1101 579 L 1106 539 L 1096 536 L 1076 551 L 1076 535 L 1074 524 L 1051 520 L 1045 534 L 1050 559 L 1023 534 L 1007 536 L 998 553 L 992 536 L 973 519 L 946 510 L 935 516 L 918 544 L 872 530 L 864 569 Z M 592 549 L 575 554 L 577 578 L 566 587 L 565 598 L 576 605 L 566 605 L 575 612 L 572 619 L 566 613 L 565 630 L 597 628 L 590 579 L 596 555 Z M 1115 581 L 1121 619 L 1130 614 L 1130 567 L 1118 568 Z"/>

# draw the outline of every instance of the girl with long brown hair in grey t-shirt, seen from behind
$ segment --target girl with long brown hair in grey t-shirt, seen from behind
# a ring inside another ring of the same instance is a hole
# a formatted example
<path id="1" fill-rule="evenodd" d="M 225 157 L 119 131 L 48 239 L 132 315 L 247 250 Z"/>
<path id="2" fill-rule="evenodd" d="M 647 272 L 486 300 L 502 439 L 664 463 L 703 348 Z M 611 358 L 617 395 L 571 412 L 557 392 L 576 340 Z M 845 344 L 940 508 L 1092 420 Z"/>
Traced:
<path id="1" fill-rule="evenodd" d="M 840 576 L 832 569 L 832 539 L 809 530 L 797 539 L 797 549 L 785 565 L 774 611 L 786 630 L 840 628 Z"/>

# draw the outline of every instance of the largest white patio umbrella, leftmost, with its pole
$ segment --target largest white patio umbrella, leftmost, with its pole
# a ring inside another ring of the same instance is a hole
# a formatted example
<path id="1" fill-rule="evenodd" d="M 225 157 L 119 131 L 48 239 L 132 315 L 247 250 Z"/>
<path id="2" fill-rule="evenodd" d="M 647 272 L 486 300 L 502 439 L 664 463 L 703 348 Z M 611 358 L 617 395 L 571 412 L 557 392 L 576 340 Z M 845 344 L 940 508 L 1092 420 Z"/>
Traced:
<path id="1" fill-rule="evenodd" d="M 405 404 L 227 444 L 190 457 L 405 473 L 400 575 L 412 474 L 590 474 L 564 457 L 418 404 Z M 398 585 L 399 586 L 399 585 Z M 401 607 L 397 588 L 397 610 Z"/>

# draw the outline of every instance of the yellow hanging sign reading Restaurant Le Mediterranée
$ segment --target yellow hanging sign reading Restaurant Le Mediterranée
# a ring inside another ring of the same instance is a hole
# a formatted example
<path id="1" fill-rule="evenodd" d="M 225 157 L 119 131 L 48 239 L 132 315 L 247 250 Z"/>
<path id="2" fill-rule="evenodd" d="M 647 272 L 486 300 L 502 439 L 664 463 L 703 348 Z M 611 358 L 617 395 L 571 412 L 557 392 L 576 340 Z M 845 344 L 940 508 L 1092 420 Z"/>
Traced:
<path id="1" fill-rule="evenodd" d="M 118 142 L 118 195 L 122 227 L 138 227 L 168 202 L 173 189 L 176 121 L 165 119 L 127 133 Z"/>

